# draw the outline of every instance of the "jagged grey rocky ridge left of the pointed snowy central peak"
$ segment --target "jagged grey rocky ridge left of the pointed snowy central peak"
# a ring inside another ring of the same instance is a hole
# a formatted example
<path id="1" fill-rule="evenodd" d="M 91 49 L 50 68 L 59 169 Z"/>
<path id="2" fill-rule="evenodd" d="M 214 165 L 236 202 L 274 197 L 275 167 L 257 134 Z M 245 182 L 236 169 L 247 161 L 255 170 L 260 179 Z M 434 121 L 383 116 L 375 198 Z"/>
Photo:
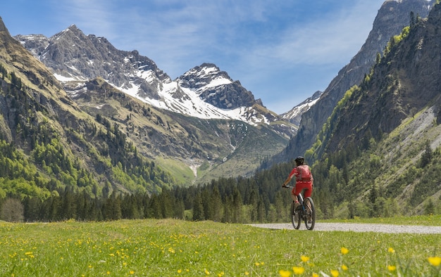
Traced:
<path id="1" fill-rule="evenodd" d="M 15 39 L 63 82 L 102 77 L 125 89 L 132 89 L 132 83 L 138 84 L 144 88 L 144 94 L 158 98 L 159 84 L 170 81 L 170 77 L 149 58 L 140 56 L 137 51 L 120 51 L 106 38 L 85 35 L 75 25 L 49 39 L 44 39 L 42 35 L 19 35 Z M 151 82 L 138 76 L 144 72 L 154 75 Z"/>

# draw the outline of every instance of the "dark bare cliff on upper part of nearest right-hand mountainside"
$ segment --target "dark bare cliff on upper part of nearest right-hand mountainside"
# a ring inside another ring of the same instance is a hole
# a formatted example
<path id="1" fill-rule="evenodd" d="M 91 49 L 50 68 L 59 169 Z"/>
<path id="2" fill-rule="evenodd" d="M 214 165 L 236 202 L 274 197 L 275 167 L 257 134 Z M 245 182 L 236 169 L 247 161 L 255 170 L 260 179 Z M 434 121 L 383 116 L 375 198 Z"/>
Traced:
<path id="1" fill-rule="evenodd" d="M 332 139 L 331 153 L 364 137 L 380 139 L 404 118 L 422 108 L 441 103 L 441 6 L 430 11 L 427 20 L 411 27 L 409 34 L 392 47 L 375 65 L 371 80 L 354 92 L 339 112 Z"/>

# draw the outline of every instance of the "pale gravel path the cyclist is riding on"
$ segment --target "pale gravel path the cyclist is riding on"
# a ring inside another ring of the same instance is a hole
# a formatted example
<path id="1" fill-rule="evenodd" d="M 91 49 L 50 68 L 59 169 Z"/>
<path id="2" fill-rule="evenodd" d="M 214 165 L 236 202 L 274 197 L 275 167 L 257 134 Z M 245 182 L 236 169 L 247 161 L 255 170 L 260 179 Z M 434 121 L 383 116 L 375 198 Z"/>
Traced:
<path id="1" fill-rule="evenodd" d="M 290 223 L 280 224 L 249 224 L 250 226 L 271 229 L 292 229 Z M 304 224 L 300 230 L 306 230 Z M 416 226 L 392 224 L 361 224 L 361 223 L 321 223 L 317 222 L 313 231 L 352 231 L 377 233 L 441 233 L 441 226 Z"/>

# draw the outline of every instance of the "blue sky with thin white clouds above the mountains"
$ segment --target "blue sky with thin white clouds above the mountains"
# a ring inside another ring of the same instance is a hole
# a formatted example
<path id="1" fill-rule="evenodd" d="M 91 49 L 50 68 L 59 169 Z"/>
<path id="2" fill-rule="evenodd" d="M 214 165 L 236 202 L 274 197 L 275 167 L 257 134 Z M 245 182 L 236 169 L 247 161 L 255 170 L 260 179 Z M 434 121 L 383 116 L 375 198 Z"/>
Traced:
<path id="1" fill-rule="evenodd" d="M 277 113 L 324 91 L 361 49 L 383 0 L 11 0 L 11 35 L 70 25 L 137 50 L 172 79 L 214 63 Z"/>

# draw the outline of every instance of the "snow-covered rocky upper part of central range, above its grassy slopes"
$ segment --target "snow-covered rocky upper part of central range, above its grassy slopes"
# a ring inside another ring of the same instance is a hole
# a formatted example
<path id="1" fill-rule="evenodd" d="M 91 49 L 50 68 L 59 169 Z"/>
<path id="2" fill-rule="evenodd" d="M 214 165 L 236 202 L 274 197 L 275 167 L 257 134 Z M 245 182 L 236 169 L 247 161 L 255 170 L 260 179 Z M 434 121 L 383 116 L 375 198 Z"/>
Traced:
<path id="1" fill-rule="evenodd" d="M 233 81 L 227 72 L 210 63 L 172 80 L 138 51 L 120 51 L 107 39 L 85 35 L 75 25 L 50 38 L 18 35 L 15 39 L 49 67 L 60 82 L 76 82 L 77 89 L 85 89 L 88 79 L 102 77 L 120 91 L 156 108 L 254 125 L 283 122 L 274 126 L 286 136 L 297 131 L 296 126 L 267 110 L 260 99 L 254 99 L 239 81 Z M 68 92 L 75 94 L 75 90 Z"/>

